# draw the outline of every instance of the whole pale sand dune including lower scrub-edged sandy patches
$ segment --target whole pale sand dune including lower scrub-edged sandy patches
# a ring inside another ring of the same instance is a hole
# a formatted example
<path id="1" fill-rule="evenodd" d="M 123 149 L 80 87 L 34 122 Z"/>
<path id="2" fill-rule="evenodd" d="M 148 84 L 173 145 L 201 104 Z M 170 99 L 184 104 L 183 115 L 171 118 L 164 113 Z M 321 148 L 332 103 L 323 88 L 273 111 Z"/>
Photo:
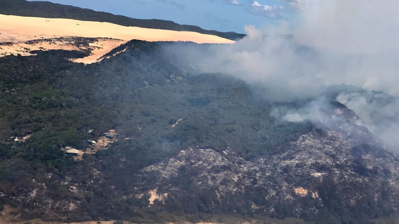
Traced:
<path id="1" fill-rule="evenodd" d="M 7 16 L 0 14 L 0 42 L 12 42 L 0 45 L 0 57 L 10 54 L 30 55 L 29 51 L 37 49 L 77 49 L 75 43 L 57 43 L 57 41 L 40 41 L 40 39 L 59 37 L 95 37 L 99 39 L 88 47 L 89 57 L 76 59 L 76 62 L 93 63 L 105 53 L 131 39 L 145 41 L 193 41 L 196 43 L 234 43 L 229 39 L 190 31 L 172 31 L 127 27 L 107 22 L 91 22 L 71 19 L 47 19 L 38 17 Z M 35 43 L 26 43 L 39 40 Z"/>

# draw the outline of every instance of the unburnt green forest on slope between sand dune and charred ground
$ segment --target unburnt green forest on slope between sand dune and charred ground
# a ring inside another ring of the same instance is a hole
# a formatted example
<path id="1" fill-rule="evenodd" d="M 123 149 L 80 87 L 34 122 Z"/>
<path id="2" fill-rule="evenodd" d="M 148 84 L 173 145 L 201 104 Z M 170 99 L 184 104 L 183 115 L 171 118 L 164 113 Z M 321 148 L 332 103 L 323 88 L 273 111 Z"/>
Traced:
<path id="1" fill-rule="evenodd" d="M 158 45 L 128 44 L 125 55 L 87 66 L 61 59 L 62 51 L 1 58 L 2 140 L 44 130 L 65 136 L 61 132 L 94 129 L 91 136 L 81 134 L 85 139 L 118 128 L 135 145 L 191 142 L 229 146 L 249 156 L 273 152 L 300 129 L 270 118 L 270 108 L 255 104 L 243 81 L 222 74 L 190 77 L 160 54 Z M 170 128 L 178 119 L 184 121 Z M 66 143 L 71 144 L 57 145 Z"/>

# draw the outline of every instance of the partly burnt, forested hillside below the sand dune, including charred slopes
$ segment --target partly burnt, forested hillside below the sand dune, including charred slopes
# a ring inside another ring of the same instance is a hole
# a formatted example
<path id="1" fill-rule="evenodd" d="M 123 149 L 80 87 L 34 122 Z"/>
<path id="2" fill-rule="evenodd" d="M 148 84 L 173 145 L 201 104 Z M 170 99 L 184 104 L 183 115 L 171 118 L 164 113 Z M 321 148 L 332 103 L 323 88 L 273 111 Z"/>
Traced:
<path id="1" fill-rule="evenodd" d="M 323 110 L 341 114 L 334 126 L 282 122 L 275 106 L 305 102 L 274 105 L 229 75 L 184 70 L 162 50 L 172 44 L 129 41 L 90 65 L 64 59 L 73 51 L 0 58 L 1 203 L 20 218 L 65 222 L 372 223 L 396 213 L 399 159 L 353 111 L 332 97 Z M 86 140 L 110 129 L 117 141 L 90 153 Z"/>

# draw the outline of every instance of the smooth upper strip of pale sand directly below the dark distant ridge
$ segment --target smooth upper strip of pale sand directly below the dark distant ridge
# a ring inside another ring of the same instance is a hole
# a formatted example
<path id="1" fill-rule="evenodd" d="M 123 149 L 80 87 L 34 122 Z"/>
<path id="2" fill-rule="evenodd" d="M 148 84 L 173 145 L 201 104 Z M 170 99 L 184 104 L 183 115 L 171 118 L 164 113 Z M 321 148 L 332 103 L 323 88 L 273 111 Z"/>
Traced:
<path id="1" fill-rule="evenodd" d="M 37 37 L 109 37 L 115 39 L 146 41 L 193 41 L 196 43 L 234 43 L 235 41 L 190 31 L 148 29 L 120 26 L 107 22 L 70 19 L 6 16 L 0 14 L 0 41 L 22 41 Z M 33 36 L 37 37 L 33 37 Z"/>

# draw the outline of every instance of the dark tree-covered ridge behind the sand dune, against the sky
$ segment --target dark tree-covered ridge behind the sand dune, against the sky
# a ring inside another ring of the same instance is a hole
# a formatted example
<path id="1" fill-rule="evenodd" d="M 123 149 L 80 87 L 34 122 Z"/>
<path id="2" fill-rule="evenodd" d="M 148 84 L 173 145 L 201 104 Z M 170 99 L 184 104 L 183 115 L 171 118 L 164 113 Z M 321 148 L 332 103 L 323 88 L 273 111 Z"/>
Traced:
<path id="1" fill-rule="evenodd" d="M 140 20 L 126 16 L 117 16 L 107 12 L 96 12 L 90 9 L 40 1 L 28 2 L 26 0 L 0 0 L 0 14 L 43 18 L 65 18 L 84 21 L 109 22 L 122 26 L 137 26 L 142 28 L 169 29 L 176 31 L 193 31 L 203 34 L 216 35 L 231 40 L 241 39 L 245 36 L 244 34 L 235 32 L 219 32 L 215 30 L 201 29 L 198 26 L 180 25 L 167 20 Z"/>

